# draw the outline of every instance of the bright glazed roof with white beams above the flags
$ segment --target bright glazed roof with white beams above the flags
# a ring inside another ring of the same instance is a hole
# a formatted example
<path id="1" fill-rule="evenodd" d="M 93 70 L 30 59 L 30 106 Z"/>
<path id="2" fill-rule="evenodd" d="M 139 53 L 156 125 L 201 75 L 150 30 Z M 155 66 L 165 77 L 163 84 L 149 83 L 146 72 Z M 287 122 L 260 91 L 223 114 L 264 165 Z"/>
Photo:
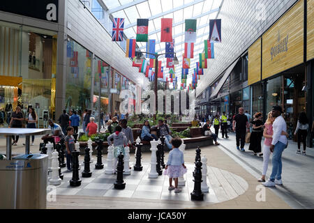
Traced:
<path id="1" fill-rule="evenodd" d="M 179 65 L 175 66 L 178 83 L 181 83 L 182 54 L 184 54 L 184 29 L 187 19 L 197 19 L 197 40 L 194 43 L 194 59 L 190 59 L 187 82 L 190 83 L 193 68 L 199 61 L 199 53 L 204 50 L 204 40 L 209 38 L 209 20 L 218 16 L 218 8 L 222 0 L 98 0 L 103 1 L 113 17 L 125 18 L 124 34 L 127 38 L 136 38 L 136 22 L 138 18 L 149 19 L 149 39 L 156 40 L 156 52 L 165 53 L 165 43 L 160 43 L 161 18 L 172 18 L 172 37 L 174 52 L 177 53 Z M 146 51 L 146 43 L 137 43 L 142 52 Z M 163 61 L 164 74 L 168 74 L 166 59 Z M 208 61 L 209 62 L 209 61 Z"/>

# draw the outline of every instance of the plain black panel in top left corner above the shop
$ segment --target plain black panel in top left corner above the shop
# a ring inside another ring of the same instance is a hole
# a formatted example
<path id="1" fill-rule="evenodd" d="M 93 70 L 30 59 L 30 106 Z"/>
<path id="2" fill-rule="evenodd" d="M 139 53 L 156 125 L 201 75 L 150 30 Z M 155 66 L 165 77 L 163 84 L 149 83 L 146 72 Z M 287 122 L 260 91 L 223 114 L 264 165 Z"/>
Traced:
<path id="1" fill-rule="evenodd" d="M 1 1 L 0 10 L 40 20 L 58 22 L 59 0 Z"/>

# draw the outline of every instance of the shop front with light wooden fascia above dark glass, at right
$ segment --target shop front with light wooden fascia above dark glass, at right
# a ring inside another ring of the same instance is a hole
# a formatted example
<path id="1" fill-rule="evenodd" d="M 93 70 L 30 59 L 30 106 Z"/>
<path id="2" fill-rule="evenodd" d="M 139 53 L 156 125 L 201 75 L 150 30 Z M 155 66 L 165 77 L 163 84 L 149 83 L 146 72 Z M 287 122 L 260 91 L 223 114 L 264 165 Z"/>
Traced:
<path id="1" fill-rule="evenodd" d="M 297 1 L 248 49 L 253 114 L 263 111 L 265 117 L 274 105 L 280 105 L 289 139 L 294 140 L 299 114 L 310 112 L 306 109 L 305 88 L 305 6 L 304 0 Z"/>

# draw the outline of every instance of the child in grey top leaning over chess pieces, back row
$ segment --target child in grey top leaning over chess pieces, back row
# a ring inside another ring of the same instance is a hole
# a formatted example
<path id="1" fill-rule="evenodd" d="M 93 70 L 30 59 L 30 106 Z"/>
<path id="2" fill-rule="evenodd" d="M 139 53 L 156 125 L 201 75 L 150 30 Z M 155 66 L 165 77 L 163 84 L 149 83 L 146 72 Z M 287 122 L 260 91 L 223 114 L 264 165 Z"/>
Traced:
<path id="1" fill-rule="evenodd" d="M 112 139 L 114 144 L 114 169 L 117 168 L 118 155 L 122 152 L 123 155 L 126 155 L 124 147 L 128 144 L 128 139 L 126 139 L 126 134 L 122 131 L 120 125 L 117 125 L 115 128 L 116 132 L 110 134 L 107 138 L 109 146 L 112 145 Z"/>

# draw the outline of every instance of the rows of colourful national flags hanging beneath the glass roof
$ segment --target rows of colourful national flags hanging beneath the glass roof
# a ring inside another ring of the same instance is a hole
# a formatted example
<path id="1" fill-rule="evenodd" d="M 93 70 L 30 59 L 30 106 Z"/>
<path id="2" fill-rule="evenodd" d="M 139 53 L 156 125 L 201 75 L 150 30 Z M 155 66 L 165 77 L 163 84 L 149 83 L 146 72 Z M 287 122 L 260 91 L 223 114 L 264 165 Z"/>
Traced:
<path id="1" fill-rule="evenodd" d="M 161 18 L 160 43 L 165 42 L 166 66 L 169 68 L 167 74 L 164 73 L 162 62 L 158 61 L 158 81 L 170 82 L 174 89 L 193 90 L 197 87 L 197 80 L 204 75 L 204 69 L 208 68 L 207 59 L 215 59 L 214 43 L 221 43 L 221 20 L 209 20 L 209 39 L 204 40 L 204 52 L 199 54 L 199 61 L 193 69 L 192 82 L 187 83 L 190 59 L 194 59 L 194 43 L 197 36 L 197 20 L 185 20 L 184 33 L 184 54 L 182 54 L 181 85 L 178 86 L 178 79 L 174 68 L 174 38 L 172 38 L 172 19 Z M 154 81 L 156 68 L 156 40 L 149 40 L 148 19 L 137 19 L 136 38 L 126 40 L 126 57 L 133 59 L 132 66 L 139 68 L 139 72 L 144 73 L 150 82 Z M 112 21 L 112 41 L 124 41 L 124 18 L 114 18 Z M 137 56 L 136 43 L 146 42 L 146 59 L 141 59 L 140 63 L 135 62 Z M 74 56 L 73 56 L 74 57 Z"/>

